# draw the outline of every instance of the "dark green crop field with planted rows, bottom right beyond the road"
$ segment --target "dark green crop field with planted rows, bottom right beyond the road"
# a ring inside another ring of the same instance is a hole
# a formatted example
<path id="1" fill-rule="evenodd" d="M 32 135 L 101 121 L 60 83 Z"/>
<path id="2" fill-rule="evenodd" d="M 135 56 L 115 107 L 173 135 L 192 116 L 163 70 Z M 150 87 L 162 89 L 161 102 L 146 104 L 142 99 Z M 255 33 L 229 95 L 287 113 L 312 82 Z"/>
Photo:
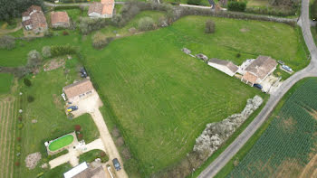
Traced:
<path id="1" fill-rule="evenodd" d="M 259 138 L 253 136 L 238 153 L 240 156 L 235 156 L 237 166 L 227 164 L 216 177 L 312 175 L 316 166 L 316 89 L 316 78 L 296 84 L 257 131 L 255 137 Z"/>

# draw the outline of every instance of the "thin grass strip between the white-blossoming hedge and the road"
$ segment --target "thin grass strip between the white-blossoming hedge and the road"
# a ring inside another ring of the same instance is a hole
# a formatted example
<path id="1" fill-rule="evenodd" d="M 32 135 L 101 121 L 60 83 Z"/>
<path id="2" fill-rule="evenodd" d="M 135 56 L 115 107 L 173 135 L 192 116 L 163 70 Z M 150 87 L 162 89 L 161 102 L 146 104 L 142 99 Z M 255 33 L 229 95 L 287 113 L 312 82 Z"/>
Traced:
<path id="1" fill-rule="evenodd" d="M 218 157 L 218 155 L 222 154 L 222 152 L 225 151 L 226 148 L 227 148 L 229 145 L 231 145 L 231 144 L 235 141 L 235 138 L 236 138 L 237 136 L 239 136 L 239 135 L 245 130 L 245 128 L 246 128 L 247 126 L 249 126 L 249 124 L 250 124 L 250 123 L 255 119 L 255 117 L 261 112 L 262 108 L 264 108 L 264 106 L 265 106 L 265 104 L 266 104 L 266 101 L 268 100 L 268 96 L 267 96 L 267 95 L 262 95 L 261 97 L 264 98 L 264 102 L 263 102 L 262 106 L 261 106 L 260 108 L 256 109 L 256 111 L 255 111 L 250 117 L 248 117 L 248 118 L 245 120 L 244 124 L 242 124 L 239 128 L 237 128 L 237 129 L 235 130 L 235 133 L 234 133 L 232 136 L 230 136 L 230 137 L 226 140 L 226 142 L 225 142 L 223 145 L 221 145 L 221 147 L 219 147 L 219 148 L 216 150 L 216 152 L 215 152 L 213 155 L 211 155 L 211 156 L 207 159 L 207 161 L 206 161 L 204 164 L 202 164 L 202 165 L 195 171 L 195 173 L 193 173 L 193 174 L 191 174 L 190 176 L 187 176 L 187 177 L 197 177 L 201 172 L 203 172 L 203 171 L 207 168 L 207 166 L 208 166 L 209 164 L 211 164 L 211 163 Z"/>

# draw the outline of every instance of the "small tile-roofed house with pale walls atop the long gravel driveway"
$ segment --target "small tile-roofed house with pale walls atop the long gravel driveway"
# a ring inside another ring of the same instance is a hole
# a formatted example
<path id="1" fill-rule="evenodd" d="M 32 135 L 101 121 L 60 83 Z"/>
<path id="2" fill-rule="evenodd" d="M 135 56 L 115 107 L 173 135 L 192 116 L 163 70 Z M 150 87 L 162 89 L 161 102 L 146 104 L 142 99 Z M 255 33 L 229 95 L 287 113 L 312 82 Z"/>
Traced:
<path id="1" fill-rule="evenodd" d="M 85 98 L 95 92 L 91 80 L 89 79 L 72 83 L 71 85 L 62 88 L 62 91 L 70 102 L 78 101 L 80 98 Z"/>

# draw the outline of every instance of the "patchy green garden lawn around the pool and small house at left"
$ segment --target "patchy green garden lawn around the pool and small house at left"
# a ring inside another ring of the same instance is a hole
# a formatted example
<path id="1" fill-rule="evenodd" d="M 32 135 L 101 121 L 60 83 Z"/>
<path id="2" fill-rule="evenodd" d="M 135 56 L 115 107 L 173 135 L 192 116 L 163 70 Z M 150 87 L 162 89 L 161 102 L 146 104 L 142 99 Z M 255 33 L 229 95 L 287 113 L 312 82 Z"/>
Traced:
<path id="1" fill-rule="evenodd" d="M 24 127 L 17 134 L 22 137 L 19 160 L 21 166 L 16 167 L 14 177 L 34 177 L 38 173 L 46 173 L 46 170 L 39 166 L 47 163 L 51 157 L 47 156 L 43 143 L 73 132 L 75 125 L 82 126 L 81 134 L 85 143 L 90 143 L 99 137 L 97 126 L 90 115 L 85 114 L 71 120 L 66 117 L 64 111 L 62 87 L 72 83 L 73 80 L 80 79 L 79 72 L 76 70 L 78 64 L 74 57 L 66 62 L 66 69 L 70 70 L 67 74 L 62 68 L 51 71 L 42 69 L 34 79 L 30 79 L 31 87 L 25 87 L 23 82 L 20 83 L 24 98 L 22 118 Z M 27 96 L 33 96 L 34 101 L 28 103 Z M 32 123 L 33 119 L 36 119 L 37 123 Z M 25 167 L 24 158 L 34 152 L 41 152 L 43 159 L 34 170 L 28 170 Z"/>

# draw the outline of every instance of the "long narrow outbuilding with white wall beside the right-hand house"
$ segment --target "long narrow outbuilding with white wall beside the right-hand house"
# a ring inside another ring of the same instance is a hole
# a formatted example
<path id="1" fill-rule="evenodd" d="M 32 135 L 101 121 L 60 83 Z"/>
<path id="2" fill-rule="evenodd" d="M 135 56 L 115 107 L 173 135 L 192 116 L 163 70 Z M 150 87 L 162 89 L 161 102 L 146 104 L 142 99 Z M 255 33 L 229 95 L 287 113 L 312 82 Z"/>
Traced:
<path id="1" fill-rule="evenodd" d="M 234 76 L 235 72 L 238 70 L 238 67 L 231 61 L 223 61 L 218 59 L 211 59 L 208 61 L 208 65 L 216 68 L 216 70 L 220 70 L 226 73 L 229 76 Z"/>

